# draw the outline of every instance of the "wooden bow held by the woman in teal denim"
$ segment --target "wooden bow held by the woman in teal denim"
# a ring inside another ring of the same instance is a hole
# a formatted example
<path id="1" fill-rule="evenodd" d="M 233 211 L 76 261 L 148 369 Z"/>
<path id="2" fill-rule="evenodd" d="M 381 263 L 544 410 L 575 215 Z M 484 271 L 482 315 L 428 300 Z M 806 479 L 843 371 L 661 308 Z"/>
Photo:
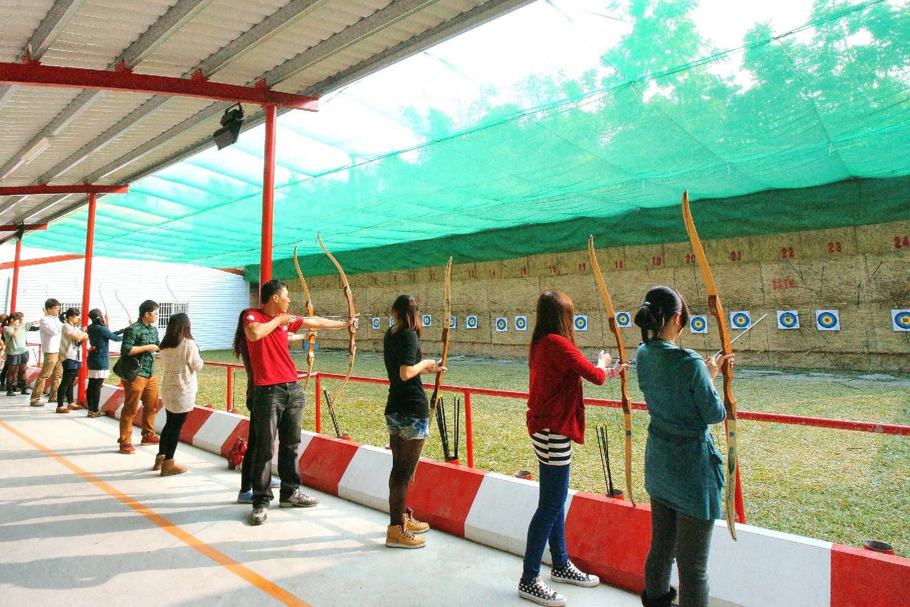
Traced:
<path id="1" fill-rule="evenodd" d="M 721 351 L 724 355 L 730 354 L 733 349 L 730 346 L 730 334 L 727 331 L 727 321 L 723 318 L 723 304 L 721 297 L 717 293 L 717 285 L 714 283 L 714 277 L 711 273 L 711 267 L 708 265 L 708 258 L 704 256 L 702 241 L 698 238 L 698 232 L 695 231 L 695 222 L 692 218 L 692 211 L 689 209 L 689 191 L 682 192 L 682 219 L 685 221 L 686 231 L 689 232 L 689 240 L 692 242 L 692 250 L 695 258 L 698 259 L 699 268 L 702 269 L 704 278 L 704 288 L 708 293 L 708 311 L 711 312 L 714 319 L 717 320 L 717 327 L 721 334 Z M 736 519 L 736 400 L 733 398 L 731 385 L 733 383 L 733 367 L 730 360 L 726 360 L 721 367 L 723 373 L 723 408 L 727 412 L 726 433 L 727 433 L 727 482 L 723 487 L 723 501 L 727 512 L 727 529 L 730 530 L 730 537 L 736 539 L 736 528 L 734 520 Z"/>

